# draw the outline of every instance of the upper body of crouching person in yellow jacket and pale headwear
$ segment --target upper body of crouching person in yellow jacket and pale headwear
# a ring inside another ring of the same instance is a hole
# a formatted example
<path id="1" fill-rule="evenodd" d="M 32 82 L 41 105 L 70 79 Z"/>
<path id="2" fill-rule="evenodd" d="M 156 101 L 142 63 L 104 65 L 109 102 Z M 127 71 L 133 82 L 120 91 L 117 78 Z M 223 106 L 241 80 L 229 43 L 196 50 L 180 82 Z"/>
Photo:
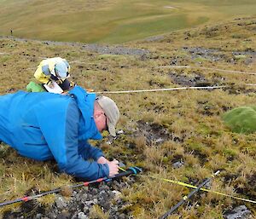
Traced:
<path id="1" fill-rule="evenodd" d="M 34 73 L 34 77 L 38 82 L 48 85 L 49 88 L 53 88 L 54 82 L 64 91 L 72 89 L 75 86 L 73 82 L 67 80 L 70 77 L 70 66 L 68 62 L 60 57 L 41 61 Z"/>

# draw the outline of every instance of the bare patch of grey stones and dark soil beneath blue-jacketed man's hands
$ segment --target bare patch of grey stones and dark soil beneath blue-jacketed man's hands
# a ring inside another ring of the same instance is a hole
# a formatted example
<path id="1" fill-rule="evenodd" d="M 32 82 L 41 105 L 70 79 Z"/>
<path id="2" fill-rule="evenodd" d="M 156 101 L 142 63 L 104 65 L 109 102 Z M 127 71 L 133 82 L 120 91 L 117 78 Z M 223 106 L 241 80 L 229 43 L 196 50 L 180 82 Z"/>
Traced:
<path id="1" fill-rule="evenodd" d="M 20 205 L 20 210 L 16 212 L 6 211 L 3 219 L 89 219 L 94 205 L 97 205 L 102 212 L 108 212 L 109 219 L 132 218 L 124 207 L 130 204 L 122 199 L 120 192 L 121 189 L 130 187 L 132 182 L 134 179 L 129 177 L 126 182 L 113 181 L 78 188 L 70 192 L 70 197 L 59 193 L 55 195 L 55 204 L 48 208 L 36 200 L 28 201 Z"/>

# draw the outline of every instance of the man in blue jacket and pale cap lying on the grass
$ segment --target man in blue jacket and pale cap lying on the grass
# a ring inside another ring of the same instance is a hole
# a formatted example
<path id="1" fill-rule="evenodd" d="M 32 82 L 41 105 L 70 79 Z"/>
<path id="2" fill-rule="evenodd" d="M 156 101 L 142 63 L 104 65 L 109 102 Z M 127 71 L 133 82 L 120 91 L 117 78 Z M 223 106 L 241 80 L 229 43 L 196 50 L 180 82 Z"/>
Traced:
<path id="1" fill-rule="evenodd" d="M 102 139 L 103 130 L 115 136 L 118 119 L 113 100 L 79 86 L 69 95 L 19 91 L 0 97 L 0 141 L 27 158 L 55 158 L 61 172 L 86 180 L 118 173 L 118 161 L 88 143 Z"/>

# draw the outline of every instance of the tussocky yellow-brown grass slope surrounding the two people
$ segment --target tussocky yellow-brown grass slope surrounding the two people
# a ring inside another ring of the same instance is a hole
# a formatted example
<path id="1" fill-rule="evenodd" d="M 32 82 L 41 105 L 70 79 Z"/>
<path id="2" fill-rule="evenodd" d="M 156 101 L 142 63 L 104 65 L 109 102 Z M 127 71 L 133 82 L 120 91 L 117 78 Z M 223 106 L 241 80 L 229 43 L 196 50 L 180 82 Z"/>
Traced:
<path id="1" fill-rule="evenodd" d="M 229 1 L 222 2 L 228 7 Z M 20 3 L 22 6 L 24 2 Z M 201 5 L 201 1 L 193 3 Z M 204 3 L 207 7 L 217 7 L 208 1 Z M 148 4 L 145 7 L 150 8 Z M 102 9 L 107 10 L 103 6 Z M 256 78 L 217 70 L 255 72 L 255 30 L 255 18 L 238 18 L 124 45 L 146 49 L 145 55 L 99 54 L 79 44 L 55 45 L 1 38 L 0 93 L 25 89 L 38 62 L 52 56 L 66 58 L 72 66 L 73 80 L 96 91 L 231 85 L 227 89 L 108 95 L 120 108 L 118 129 L 124 130 L 124 134 L 111 145 L 107 138 L 94 143 L 102 147 L 108 158 L 117 158 L 128 166 L 137 165 L 144 170 L 143 176 L 122 191 L 122 199 L 129 204 L 122 209 L 127 216 L 157 218 L 190 191 L 147 176 L 198 185 L 221 170 L 220 176 L 211 183 L 212 190 L 256 200 L 256 135 L 232 133 L 221 119 L 223 113 L 232 108 L 255 105 L 256 88 L 246 84 L 256 84 Z M 118 50 L 113 48 L 113 53 L 122 54 Z M 170 65 L 194 68 L 170 68 Z M 18 198 L 35 188 L 44 191 L 73 182 L 70 176 L 55 172 L 54 162 L 22 158 L 3 143 L 0 158 L 0 201 Z M 177 168 L 173 166 L 176 162 L 183 164 Z M 55 195 L 47 196 L 39 199 L 35 206 L 40 203 L 48 209 L 54 201 Z M 246 205 L 255 216 L 254 204 L 201 193 L 170 218 L 224 218 L 224 213 L 237 205 Z M 19 210 L 19 206 L 7 206 L 0 212 Z M 93 218 L 108 218 L 107 213 L 105 217 Z"/>

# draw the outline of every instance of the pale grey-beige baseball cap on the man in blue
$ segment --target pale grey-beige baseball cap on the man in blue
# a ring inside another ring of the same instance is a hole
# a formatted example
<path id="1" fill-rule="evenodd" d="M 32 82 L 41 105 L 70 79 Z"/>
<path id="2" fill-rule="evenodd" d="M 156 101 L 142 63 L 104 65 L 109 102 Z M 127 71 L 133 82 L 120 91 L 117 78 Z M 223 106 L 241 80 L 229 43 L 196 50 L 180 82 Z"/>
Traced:
<path id="1" fill-rule="evenodd" d="M 112 99 L 104 95 L 97 96 L 96 101 L 102 107 L 102 110 L 108 118 L 107 124 L 110 135 L 115 137 L 115 125 L 117 124 L 120 115 L 119 108 Z"/>

